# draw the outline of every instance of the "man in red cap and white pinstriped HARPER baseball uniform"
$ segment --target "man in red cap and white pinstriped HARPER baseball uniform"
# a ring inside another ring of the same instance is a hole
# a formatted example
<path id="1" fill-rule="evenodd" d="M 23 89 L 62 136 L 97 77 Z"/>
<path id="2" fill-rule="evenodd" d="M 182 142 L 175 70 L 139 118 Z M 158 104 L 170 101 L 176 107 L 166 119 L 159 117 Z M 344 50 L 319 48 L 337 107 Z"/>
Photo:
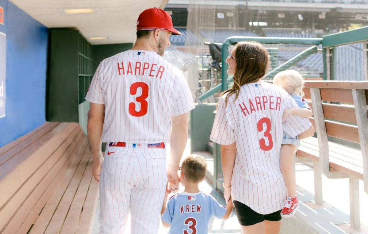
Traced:
<path id="1" fill-rule="evenodd" d="M 187 113 L 194 103 L 183 74 L 162 58 L 171 34 L 181 33 L 167 12 L 143 11 L 134 47 L 102 61 L 87 93 L 93 176 L 100 182 L 100 234 L 126 233 L 129 212 L 129 233 L 156 234 L 167 182 L 170 191 L 177 190 Z M 105 158 L 101 141 L 107 143 Z"/>

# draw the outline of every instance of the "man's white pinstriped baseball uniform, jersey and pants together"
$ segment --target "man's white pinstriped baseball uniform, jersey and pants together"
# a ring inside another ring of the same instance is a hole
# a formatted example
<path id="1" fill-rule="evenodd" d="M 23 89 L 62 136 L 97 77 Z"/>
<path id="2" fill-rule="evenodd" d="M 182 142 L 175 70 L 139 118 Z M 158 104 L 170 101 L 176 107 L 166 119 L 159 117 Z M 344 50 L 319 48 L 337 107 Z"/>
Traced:
<path id="1" fill-rule="evenodd" d="M 132 102 L 135 111 L 142 109 L 137 101 L 142 88 L 130 94 L 137 82 L 148 85 L 147 113 L 139 117 L 129 110 Z M 183 73 L 155 52 L 128 50 L 100 63 L 86 100 L 105 105 L 102 141 L 127 143 L 106 149 L 116 153 L 106 154 L 102 165 L 100 234 L 156 234 L 167 182 L 166 150 L 147 149 L 146 144 L 167 142 L 170 116 L 194 109 Z M 128 213 L 130 232 L 124 229 Z"/>

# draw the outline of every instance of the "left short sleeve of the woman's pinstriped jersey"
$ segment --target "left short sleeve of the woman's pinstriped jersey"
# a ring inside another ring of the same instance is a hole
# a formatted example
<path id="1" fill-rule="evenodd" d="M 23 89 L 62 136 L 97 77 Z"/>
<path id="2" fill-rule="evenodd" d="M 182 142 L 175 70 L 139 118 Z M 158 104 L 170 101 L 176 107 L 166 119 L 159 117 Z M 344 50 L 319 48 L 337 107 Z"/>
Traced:
<path id="1" fill-rule="evenodd" d="M 233 113 L 231 112 L 229 105 L 230 104 L 228 103 L 226 107 L 225 99 L 220 98 L 209 138 L 220 145 L 230 145 L 235 142 L 234 128 L 231 123 Z"/>

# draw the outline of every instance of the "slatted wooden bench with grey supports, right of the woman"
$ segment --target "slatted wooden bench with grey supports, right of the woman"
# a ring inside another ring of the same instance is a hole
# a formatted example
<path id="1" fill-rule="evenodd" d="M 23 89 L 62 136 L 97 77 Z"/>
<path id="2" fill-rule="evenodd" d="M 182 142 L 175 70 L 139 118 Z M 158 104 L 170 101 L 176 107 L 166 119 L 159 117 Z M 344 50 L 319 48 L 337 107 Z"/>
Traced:
<path id="1" fill-rule="evenodd" d="M 350 224 L 360 229 L 359 179 L 368 193 L 368 82 L 308 81 L 304 92 L 317 138 L 301 140 L 295 161 L 314 164 L 317 206 L 323 206 L 322 173 L 349 179 Z"/>

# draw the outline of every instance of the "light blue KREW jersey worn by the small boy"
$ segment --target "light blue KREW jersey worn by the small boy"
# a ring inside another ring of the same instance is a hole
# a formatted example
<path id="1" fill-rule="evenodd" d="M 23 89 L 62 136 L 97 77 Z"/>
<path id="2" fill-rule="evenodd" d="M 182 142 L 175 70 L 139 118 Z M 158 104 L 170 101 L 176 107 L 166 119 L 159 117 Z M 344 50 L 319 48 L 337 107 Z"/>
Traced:
<path id="1" fill-rule="evenodd" d="M 161 219 L 171 225 L 169 234 L 207 234 L 212 215 L 221 219 L 225 213 L 212 196 L 183 192 L 170 198 Z"/>

